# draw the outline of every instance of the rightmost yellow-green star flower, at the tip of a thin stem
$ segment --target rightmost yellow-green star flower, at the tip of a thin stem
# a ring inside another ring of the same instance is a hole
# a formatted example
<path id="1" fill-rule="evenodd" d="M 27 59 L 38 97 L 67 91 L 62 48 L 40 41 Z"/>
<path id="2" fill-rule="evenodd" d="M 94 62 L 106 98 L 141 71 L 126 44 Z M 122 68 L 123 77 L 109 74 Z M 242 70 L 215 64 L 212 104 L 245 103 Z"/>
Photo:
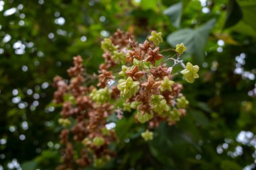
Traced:
<path id="1" fill-rule="evenodd" d="M 181 71 L 181 74 L 184 75 L 185 81 L 193 83 L 195 79 L 199 78 L 199 75 L 197 75 L 198 71 L 199 67 L 197 65 L 193 66 L 190 62 L 187 62 L 186 69 Z"/>

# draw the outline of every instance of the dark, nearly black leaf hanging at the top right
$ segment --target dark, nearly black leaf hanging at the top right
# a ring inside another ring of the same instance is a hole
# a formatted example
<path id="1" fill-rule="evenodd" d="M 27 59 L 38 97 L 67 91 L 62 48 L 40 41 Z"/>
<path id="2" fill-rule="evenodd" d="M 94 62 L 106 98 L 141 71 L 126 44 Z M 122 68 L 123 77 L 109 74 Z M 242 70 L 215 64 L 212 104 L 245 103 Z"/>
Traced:
<path id="1" fill-rule="evenodd" d="M 237 24 L 243 18 L 243 13 L 235 0 L 228 1 L 228 11 L 226 12 L 226 21 L 224 29 Z"/>

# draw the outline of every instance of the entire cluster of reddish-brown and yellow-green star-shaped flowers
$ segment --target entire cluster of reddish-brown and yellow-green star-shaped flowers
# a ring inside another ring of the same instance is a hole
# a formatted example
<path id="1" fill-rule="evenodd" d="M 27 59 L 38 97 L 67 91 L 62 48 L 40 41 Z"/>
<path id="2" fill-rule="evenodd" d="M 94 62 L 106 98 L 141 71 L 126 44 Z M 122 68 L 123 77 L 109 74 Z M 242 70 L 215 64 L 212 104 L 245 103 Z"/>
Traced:
<path id="1" fill-rule="evenodd" d="M 121 119 L 123 111 L 130 112 L 136 122 L 147 123 L 150 129 L 163 121 L 175 124 L 185 116 L 189 101 L 181 93 L 183 85 L 173 80 L 177 74 L 172 73 L 172 67 L 181 65 L 181 74 L 189 83 L 199 77 L 199 67 L 190 62 L 185 66 L 180 60 L 186 50 L 184 44 L 177 44 L 173 57 L 164 57 L 159 47 L 162 42 L 161 32 L 153 31 L 139 44 L 130 33 L 118 30 L 101 42 L 104 63 L 99 67 L 98 87 L 84 84 L 81 56 L 74 57 L 74 67 L 68 70 L 70 81 L 55 77 L 54 101 L 62 104 L 59 123 L 64 129 L 60 137 L 65 146 L 59 169 L 77 169 L 90 163 L 100 167 L 115 155 L 108 145 L 117 137 L 114 130 L 106 128 L 106 118 L 112 114 Z M 174 61 L 171 67 L 166 65 L 168 60 Z M 153 132 L 146 130 L 141 136 L 152 140 Z M 82 148 L 81 152 L 75 153 L 74 147 Z"/>

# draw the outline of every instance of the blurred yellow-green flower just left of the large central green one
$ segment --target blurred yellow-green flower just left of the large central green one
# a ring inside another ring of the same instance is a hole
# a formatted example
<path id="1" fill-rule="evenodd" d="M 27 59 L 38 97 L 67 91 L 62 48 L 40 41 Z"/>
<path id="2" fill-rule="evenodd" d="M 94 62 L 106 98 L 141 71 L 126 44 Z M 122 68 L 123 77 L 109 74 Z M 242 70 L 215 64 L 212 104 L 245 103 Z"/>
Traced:
<path id="1" fill-rule="evenodd" d="M 90 97 L 92 97 L 93 101 L 98 103 L 106 103 L 110 98 L 110 91 L 108 90 L 108 87 L 98 90 L 94 89 L 92 93 L 90 93 Z"/>

